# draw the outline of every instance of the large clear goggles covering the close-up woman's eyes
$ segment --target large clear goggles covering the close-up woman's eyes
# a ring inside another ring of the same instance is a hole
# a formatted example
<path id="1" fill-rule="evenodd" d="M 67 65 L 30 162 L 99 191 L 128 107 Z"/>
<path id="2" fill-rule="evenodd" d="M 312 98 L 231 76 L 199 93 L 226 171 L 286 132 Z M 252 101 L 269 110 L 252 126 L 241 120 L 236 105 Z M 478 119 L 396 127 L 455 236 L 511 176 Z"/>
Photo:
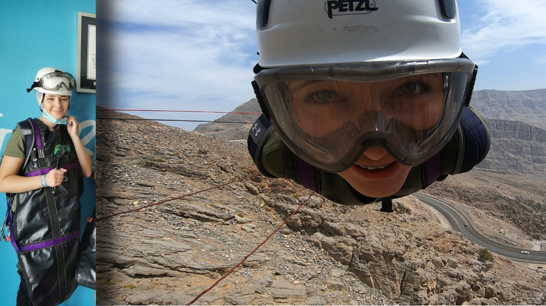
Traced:
<path id="1" fill-rule="evenodd" d="M 457 129 L 477 66 L 466 59 L 265 69 L 254 80 L 301 159 L 329 172 L 369 147 L 404 165 L 437 154 Z"/>

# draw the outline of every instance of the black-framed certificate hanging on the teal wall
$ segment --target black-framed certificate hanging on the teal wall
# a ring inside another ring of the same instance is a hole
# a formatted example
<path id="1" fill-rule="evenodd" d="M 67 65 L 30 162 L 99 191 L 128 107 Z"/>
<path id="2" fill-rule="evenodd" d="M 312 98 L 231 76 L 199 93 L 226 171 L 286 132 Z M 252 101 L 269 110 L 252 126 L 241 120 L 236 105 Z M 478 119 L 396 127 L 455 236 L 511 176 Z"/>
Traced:
<path id="1" fill-rule="evenodd" d="M 96 17 L 78 12 L 76 91 L 96 93 Z"/>

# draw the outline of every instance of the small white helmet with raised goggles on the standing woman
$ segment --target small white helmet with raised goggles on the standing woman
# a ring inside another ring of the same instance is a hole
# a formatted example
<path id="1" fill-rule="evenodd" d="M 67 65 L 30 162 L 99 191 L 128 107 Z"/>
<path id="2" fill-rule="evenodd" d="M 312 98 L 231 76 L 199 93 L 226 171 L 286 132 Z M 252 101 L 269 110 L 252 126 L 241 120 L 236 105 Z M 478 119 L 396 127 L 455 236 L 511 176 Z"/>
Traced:
<path id="1" fill-rule="evenodd" d="M 72 96 L 76 88 L 74 77 L 67 72 L 53 67 L 44 67 L 36 73 L 36 78 L 26 92 L 35 90 L 39 93 L 51 93 L 53 95 Z"/>

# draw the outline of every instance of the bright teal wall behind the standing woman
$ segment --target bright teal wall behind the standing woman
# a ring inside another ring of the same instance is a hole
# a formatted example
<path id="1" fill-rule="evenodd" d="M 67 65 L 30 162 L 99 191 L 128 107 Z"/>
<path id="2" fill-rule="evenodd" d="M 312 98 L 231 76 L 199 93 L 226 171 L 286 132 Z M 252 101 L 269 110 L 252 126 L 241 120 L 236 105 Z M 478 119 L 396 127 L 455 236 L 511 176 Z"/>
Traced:
<path id="1" fill-rule="evenodd" d="M 0 149 L 17 122 L 41 116 L 35 91 L 30 87 L 38 69 L 53 66 L 76 77 L 78 12 L 95 14 L 95 0 L 0 0 Z M 94 93 L 74 91 L 69 115 L 82 127 L 80 138 L 94 159 Z M 83 220 L 95 205 L 95 183 L 85 179 L 82 196 Z M 6 212 L 5 195 L 0 194 L 0 219 Z M 3 305 L 15 305 L 19 276 L 17 255 L 8 242 L 0 242 L 0 296 Z M 62 305 L 95 305 L 95 291 L 78 287 Z"/>

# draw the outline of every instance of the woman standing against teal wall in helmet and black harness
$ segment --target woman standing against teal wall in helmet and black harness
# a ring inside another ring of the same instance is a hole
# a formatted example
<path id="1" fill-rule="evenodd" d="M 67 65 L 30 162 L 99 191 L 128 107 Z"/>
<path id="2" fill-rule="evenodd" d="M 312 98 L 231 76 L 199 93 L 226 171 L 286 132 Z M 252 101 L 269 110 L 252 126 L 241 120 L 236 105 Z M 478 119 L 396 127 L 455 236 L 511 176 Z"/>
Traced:
<path id="1" fill-rule="evenodd" d="M 91 158 L 78 120 L 67 116 L 75 84 L 70 73 L 39 69 L 27 91 L 37 92 L 42 116 L 17 124 L 0 164 L 21 276 L 17 305 L 58 305 L 76 289 L 79 198 Z"/>

